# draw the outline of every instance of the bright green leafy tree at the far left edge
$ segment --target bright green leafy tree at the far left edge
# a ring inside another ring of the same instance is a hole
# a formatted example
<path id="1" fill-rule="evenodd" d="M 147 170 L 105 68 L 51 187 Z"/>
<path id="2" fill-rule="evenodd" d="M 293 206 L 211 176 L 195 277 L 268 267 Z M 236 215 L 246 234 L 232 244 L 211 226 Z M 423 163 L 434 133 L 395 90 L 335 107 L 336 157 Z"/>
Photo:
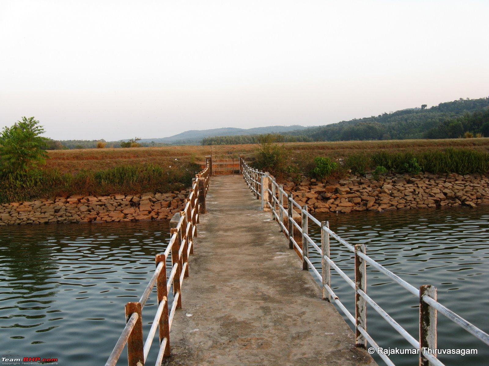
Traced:
<path id="1" fill-rule="evenodd" d="M 34 117 L 22 117 L 11 127 L 4 127 L 0 135 L 0 172 L 2 175 L 22 177 L 37 165 L 46 163 L 44 150 L 47 139 L 42 137 L 43 126 Z"/>

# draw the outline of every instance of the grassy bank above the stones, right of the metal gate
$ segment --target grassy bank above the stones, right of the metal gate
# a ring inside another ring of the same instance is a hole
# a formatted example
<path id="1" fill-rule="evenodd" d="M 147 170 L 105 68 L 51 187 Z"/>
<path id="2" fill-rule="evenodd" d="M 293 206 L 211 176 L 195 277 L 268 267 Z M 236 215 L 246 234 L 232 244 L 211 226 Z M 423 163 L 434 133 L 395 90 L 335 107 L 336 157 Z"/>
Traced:
<path id="1" fill-rule="evenodd" d="M 489 139 L 312 142 L 262 146 L 255 166 L 275 175 L 299 180 L 315 177 L 315 158 L 329 158 L 334 178 L 349 173 L 381 172 L 417 174 L 486 174 L 489 172 Z M 279 148 L 280 147 L 280 148 Z M 263 151 L 263 149 L 268 151 Z M 329 163 L 327 163 L 329 164 Z M 330 169 L 331 168 L 331 169 Z M 317 177 L 315 177 L 317 178 Z"/>

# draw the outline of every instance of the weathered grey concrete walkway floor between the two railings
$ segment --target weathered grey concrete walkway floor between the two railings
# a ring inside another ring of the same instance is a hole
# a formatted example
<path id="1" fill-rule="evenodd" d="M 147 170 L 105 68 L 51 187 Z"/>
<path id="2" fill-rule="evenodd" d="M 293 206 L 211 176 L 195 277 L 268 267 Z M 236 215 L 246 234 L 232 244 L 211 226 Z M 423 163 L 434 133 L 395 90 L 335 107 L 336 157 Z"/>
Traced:
<path id="1" fill-rule="evenodd" d="M 211 177 L 166 365 L 369 365 L 243 176 Z"/>

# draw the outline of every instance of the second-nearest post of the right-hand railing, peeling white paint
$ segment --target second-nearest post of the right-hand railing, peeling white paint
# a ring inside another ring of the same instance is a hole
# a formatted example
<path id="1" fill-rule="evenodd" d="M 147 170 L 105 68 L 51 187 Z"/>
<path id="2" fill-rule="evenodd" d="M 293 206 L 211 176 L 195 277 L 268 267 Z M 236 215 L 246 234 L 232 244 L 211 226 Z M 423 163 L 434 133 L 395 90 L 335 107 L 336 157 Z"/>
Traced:
<path id="1" fill-rule="evenodd" d="M 358 330 L 358 326 L 361 326 L 365 331 L 367 330 L 367 304 L 358 293 L 358 290 L 367 293 L 367 267 L 366 262 L 360 258 L 358 253 L 365 254 L 364 244 L 355 245 L 355 346 L 367 348 L 367 341 Z"/>

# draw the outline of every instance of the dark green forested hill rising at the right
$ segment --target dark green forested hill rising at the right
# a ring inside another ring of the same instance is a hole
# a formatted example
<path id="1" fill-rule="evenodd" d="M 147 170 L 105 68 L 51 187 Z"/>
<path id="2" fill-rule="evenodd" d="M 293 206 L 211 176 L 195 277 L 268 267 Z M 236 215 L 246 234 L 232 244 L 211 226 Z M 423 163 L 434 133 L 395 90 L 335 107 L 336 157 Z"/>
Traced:
<path id="1" fill-rule="evenodd" d="M 489 137 L 489 98 L 459 99 L 431 108 L 403 109 L 342 121 L 284 135 L 302 135 L 313 141 L 403 140 L 458 138 L 465 132 Z"/>

